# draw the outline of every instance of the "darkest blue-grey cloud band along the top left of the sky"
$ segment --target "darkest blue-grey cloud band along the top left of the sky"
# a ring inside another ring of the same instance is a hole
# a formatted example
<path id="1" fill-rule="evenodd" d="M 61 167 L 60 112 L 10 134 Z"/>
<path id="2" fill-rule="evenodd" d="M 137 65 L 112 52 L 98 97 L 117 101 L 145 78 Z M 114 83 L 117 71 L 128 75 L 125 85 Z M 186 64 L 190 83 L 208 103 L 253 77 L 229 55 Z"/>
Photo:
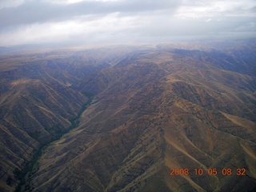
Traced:
<path id="1" fill-rule="evenodd" d="M 1 26 L 30 24 L 34 22 L 57 22 L 80 15 L 139 14 L 157 10 L 174 10 L 178 1 L 130 0 L 117 2 L 86 1 L 68 5 L 49 2 L 28 1 L 18 7 L 4 8 L 0 12 Z"/>

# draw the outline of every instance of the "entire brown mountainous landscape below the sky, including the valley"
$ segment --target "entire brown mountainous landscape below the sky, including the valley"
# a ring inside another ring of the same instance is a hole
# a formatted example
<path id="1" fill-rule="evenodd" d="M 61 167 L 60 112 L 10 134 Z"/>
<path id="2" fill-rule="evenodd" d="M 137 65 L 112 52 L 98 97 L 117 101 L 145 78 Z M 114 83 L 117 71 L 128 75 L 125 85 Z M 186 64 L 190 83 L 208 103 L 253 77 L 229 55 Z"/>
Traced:
<path id="1" fill-rule="evenodd" d="M 256 190 L 255 50 L 0 54 L 0 190 Z"/>

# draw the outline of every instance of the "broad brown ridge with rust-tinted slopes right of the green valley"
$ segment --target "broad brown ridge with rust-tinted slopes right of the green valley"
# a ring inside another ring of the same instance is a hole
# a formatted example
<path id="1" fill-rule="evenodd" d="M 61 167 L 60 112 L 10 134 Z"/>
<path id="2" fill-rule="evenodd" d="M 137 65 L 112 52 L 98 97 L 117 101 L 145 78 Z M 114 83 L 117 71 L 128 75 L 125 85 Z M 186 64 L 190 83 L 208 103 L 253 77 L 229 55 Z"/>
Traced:
<path id="1" fill-rule="evenodd" d="M 26 190 L 255 190 L 254 48 L 144 46 L 98 71 L 79 86 L 96 95 L 78 128 Z"/>

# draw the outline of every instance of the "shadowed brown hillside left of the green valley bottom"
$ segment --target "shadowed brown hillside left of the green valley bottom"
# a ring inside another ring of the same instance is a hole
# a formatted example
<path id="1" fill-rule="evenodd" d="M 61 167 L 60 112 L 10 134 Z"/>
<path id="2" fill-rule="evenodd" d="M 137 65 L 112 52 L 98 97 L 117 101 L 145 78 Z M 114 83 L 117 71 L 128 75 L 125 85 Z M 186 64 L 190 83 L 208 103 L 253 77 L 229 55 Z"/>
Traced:
<path id="1" fill-rule="evenodd" d="M 133 49 L 52 51 L 0 59 L 0 190 L 13 191 L 38 150 L 78 125 L 81 82 Z M 102 54 L 102 52 L 104 54 Z M 89 95 L 90 96 L 90 95 Z"/>

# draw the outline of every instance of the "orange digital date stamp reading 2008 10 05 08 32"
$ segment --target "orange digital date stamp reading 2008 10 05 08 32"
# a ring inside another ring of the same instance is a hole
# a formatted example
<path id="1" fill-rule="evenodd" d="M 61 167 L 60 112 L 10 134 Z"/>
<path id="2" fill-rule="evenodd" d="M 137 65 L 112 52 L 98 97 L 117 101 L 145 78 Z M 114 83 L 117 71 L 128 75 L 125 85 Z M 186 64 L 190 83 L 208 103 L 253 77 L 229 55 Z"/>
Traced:
<path id="1" fill-rule="evenodd" d="M 170 168 L 170 175 L 171 176 L 177 176 L 177 175 L 218 175 L 222 174 L 224 176 L 230 176 L 230 175 L 238 175 L 238 176 L 246 176 L 246 169 L 245 168 L 208 168 L 208 169 L 194 169 L 190 170 L 188 168 Z"/>

